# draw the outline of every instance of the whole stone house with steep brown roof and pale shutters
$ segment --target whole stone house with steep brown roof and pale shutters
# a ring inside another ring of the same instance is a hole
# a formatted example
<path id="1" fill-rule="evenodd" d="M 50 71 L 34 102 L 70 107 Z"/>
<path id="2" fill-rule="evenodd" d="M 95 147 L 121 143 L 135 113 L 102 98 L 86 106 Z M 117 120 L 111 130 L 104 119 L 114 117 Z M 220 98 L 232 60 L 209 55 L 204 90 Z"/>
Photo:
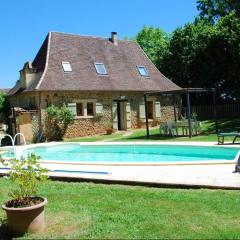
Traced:
<path id="1" fill-rule="evenodd" d="M 142 127 L 144 92 L 178 89 L 136 42 L 118 40 L 116 32 L 110 38 L 49 32 L 33 62 L 20 71 L 8 98 L 12 109 L 29 111 L 31 117 L 24 118 L 32 124 L 31 141 L 44 131 L 44 113 L 50 104 L 65 103 L 71 109 L 75 121 L 66 137 L 79 137 L 104 134 L 109 126 Z M 169 97 L 152 97 L 147 104 L 152 125 L 173 118 Z M 12 121 L 15 131 L 20 129 L 19 117 L 21 113 Z"/>

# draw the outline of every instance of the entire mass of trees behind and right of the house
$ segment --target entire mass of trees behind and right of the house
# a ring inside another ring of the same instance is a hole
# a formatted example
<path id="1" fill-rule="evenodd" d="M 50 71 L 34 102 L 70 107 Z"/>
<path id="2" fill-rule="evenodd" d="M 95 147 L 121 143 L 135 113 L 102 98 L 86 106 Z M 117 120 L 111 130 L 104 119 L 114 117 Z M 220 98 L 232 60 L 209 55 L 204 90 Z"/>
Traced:
<path id="1" fill-rule="evenodd" d="M 214 87 L 219 101 L 239 101 L 240 0 L 197 0 L 197 8 L 199 17 L 171 36 L 145 26 L 136 40 L 179 86 Z"/>

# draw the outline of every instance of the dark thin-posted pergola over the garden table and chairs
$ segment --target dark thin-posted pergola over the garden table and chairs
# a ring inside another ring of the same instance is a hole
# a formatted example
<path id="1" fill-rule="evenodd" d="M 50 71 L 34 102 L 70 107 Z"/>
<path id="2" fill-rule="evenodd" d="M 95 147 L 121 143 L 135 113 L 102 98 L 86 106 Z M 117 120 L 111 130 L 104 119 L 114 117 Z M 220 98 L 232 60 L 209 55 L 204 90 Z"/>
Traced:
<path id="1" fill-rule="evenodd" d="M 145 103 L 145 118 L 146 118 L 146 133 L 147 138 L 149 138 L 149 121 L 148 121 L 148 97 L 149 96 L 157 96 L 157 95 L 163 95 L 163 94 L 169 94 L 173 96 L 173 107 L 174 107 L 174 119 L 177 121 L 177 115 L 176 115 L 176 95 L 186 95 L 187 100 L 187 119 L 188 119 L 188 133 L 189 138 L 192 137 L 192 122 L 191 122 L 191 102 L 190 102 L 190 94 L 196 94 L 196 93 L 207 93 L 212 92 L 212 100 L 213 100 L 213 109 L 214 109 L 214 119 L 215 119 L 215 128 L 216 132 L 218 132 L 218 120 L 217 120 L 217 111 L 216 111 L 216 90 L 215 88 L 182 88 L 179 90 L 173 90 L 173 91 L 155 91 L 155 92 L 145 92 L 144 93 L 144 103 Z"/>

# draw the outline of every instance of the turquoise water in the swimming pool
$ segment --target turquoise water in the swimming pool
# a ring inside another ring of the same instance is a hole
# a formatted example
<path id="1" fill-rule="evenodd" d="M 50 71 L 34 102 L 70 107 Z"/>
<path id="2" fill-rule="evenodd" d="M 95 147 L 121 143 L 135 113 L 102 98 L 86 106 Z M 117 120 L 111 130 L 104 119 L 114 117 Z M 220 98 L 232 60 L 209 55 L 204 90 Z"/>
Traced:
<path id="1" fill-rule="evenodd" d="M 194 162 L 233 160 L 239 148 L 180 145 L 61 144 L 29 148 L 43 160 L 70 162 Z M 9 155 L 8 155 L 9 156 Z"/>

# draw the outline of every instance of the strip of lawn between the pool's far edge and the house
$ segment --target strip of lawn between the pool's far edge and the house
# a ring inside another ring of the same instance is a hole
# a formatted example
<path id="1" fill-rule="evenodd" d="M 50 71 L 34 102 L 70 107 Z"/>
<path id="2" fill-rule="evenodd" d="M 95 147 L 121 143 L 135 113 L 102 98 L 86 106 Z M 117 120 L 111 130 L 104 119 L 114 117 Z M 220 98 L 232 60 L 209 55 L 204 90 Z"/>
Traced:
<path id="1" fill-rule="evenodd" d="M 235 131 L 235 127 L 240 126 L 239 119 L 221 119 L 218 121 L 218 127 L 220 132 L 231 132 Z M 225 137 L 225 142 L 232 142 L 234 137 Z M 94 136 L 94 137 L 83 137 L 83 138 L 71 138 L 64 139 L 64 141 L 71 142 L 96 142 L 102 140 L 111 141 L 203 141 L 203 142 L 217 142 L 217 134 L 215 133 L 215 122 L 213 120 L 202 121 L 202 133 L 198 136 L 189 138 L 188 136 L 172 137 L 172 136 L 161 136 L 159 129 L 154 128 L 150 130 L 150 137 L 146 137 L 146 130 L 135 130 L 132 134 L 124 136 L 122 133 L 114 133 L 112 135 Z"/>

